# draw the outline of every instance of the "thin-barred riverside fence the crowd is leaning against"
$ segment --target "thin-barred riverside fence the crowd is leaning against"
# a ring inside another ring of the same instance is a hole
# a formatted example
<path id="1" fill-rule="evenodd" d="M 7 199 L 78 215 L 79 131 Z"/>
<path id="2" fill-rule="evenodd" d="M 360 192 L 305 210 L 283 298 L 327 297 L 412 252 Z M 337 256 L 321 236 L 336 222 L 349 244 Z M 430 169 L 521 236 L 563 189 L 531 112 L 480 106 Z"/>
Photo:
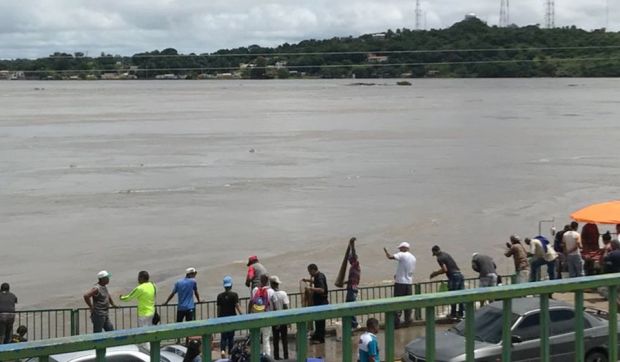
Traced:
<path id="1" fill-rule="evenodd" d="M 511 276 L 502 276 L 504 283 L 510 283 Z M 430 281 L 415 283 L 413 285 L 414 294 L 437 293 L 441 289 L 444 281 Z M 466 288 L 476 288 L 477 278 L 465 280 Z M 376 286 L 360 287 L 358 300 L 375 300 L 391 298 L 393 296 L 393 284 L 383 284 Z M 346 289 L 334 289 L 329 291 L 329 301 L 331 304 L 344 303 Z M 291 308 L 302 307 L 302 294 L 289 293 Z M 240 298 L 241 309 L 247 310 L 249 298 Z M 161 315 L 162 323 L 174 323 L 176 321 L 176 304 L 159 305 L 157 310 Z M 436 316 L 447 314 L 449 306 L 437 306 Z M 414 319 L 423 320 L 422 310 L 414 311 Z M 201 302 L 196 305 L 196 319 L 209 319 L 217 316 L 217 306 L 215 300 Z M 359 316 L 362 324 L 366 318 L 374 317 L 383 321 L 382 313 L 373 313 Z M 137 307 L 121 306 L 110 310 L 110 319 L 115 329 L 129 329 L 137 327 Z M 329 322 L 334 323 L 339 318 L 333 318 Z M 28 327 L 28 339 L 31 341 L 67 337 L 79 334 L 92 333 L 92 323 L 90 321 L 90 310 L 88 308 L 77 309 L 43 309 L 25 310 L 16 313 L 15 325 L 25 325 Z M 242 332 L 239 332 L 242 333 Z"/>

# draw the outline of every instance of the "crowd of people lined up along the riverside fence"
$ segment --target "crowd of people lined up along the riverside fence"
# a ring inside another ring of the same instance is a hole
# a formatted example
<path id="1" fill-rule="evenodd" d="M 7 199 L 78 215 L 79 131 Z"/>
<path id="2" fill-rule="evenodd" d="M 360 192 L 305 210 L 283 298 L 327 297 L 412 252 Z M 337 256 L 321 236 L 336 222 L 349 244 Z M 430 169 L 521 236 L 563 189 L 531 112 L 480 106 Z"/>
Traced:
<path id="1" fill-rule="evenodd" d="M 546 267 L 548 279 L 551 280 L 561 277 L 561 272 L 564 270 L 567 271 L 568 277 L 583 276 L 584 260 L 581 255 L 583 244 L 578 227 L 577 222 L 566 225 L 563 230 L 554 233 L 553 243 L 543 236 L 536 236 L 523 239 L 524 246 L 519 236 L 511 235 L 506 243 L 504 255 L 514 260 L 516 283 L 539 280 L 542 274 L 542 267 Z M 620 225 L 617 225 L 616 228 L 617 231 L 620 231 Z M 351 238 L 349 241 L 347 255 L 349 273 L 347 280 L 344 282 L 344 285 L 346 285 L 346 302 L 357 300 L 361 278 L 361 268 L 355 249 L 355 240 L 355 238 Z M 603 235 L 603 244 L 600 262 L 604 266 L 605 271 L 620 272 L 620 241 L 618 239 L 612 240 L 608 232 Z M 386 258 L 397 262 L 393 288 L 393 295 L 395 297 L 413 294 L 412 285 L 416 268 L 416 257 L 411 253 L 410 249 L 411 245 L 407 242 L 400 243 L 396 253 L 390 253 L 384 248 Z M 438 245 L 431 248 L 431 253 L 436 258 L 439 268 L 430 274 L 430 278 L 433 279 L 437 276 L 445 275 L 448 290 L 464 289 L 464 276 L 454 258 Z M 497 273 L 497 266 L 491 256 L 474 253 L 471 257 L 471 268 L 478 273 L 480 287 L 492 287 L 501 283 Z M 303 278 L 301 282 L 306 283 L 305 292 L 308 296 L 309 304 L 328 304 L 329 289 L 325 274 L 319 270 L 316 264 L 309 264 L 307 271 L 309 277 Z M 197 270 L 195 268 L 187 268 L 185 270 L 185 277 L 176 281 L 171 293 L 164 302 L 164 305 L 168 304 L 176 295 L 176 322 L 192 321 L 196 318 L 196 303 L 201 301 L 195 280 L 196 275 Z M 84 302 L 88 305 L 91 312 L 91 322 L 95 333 L 114 329 L 109 318 L 109 309 L 116 307 L 114 299 L 107 289 L 110 277 L 111 274 L 108 271 L 103 270 L 99 272 L 97 274 L 97 283 L 83 296 Z M 280 288 L 281 283 L 278 276 L 269 275 L 267 268 L 260 263 L 257 256 L 250 256 L 248 258 L 245 280 L 246 287 L 251 290 L 248 313 L 288 309 L 290 304 L 289 298 L 287 293 Z M 216 302 L 217 316 L 227 317 L 241 314 L 239 295 L 232 290 L 232 277 L 229 275 L 225 276 L 222 285 L 224 290 L 218 294 Z M 9 291 L 8 283 L 3 283 L 0 289 L 0 342 L 25 341 L 25 334 L 27 332 L 25 326 L 20 326 L 18 334 L 13 335 L 17 297 Z M 119 299 L 121 302 L 137 301 L 138 326 L 145 327 L 159 323 L 160 318 L 155 308 L 156 296 L 157 287 L 150 281 L 149 273 L 147 271 L 140 271 L 138 273 L 138 285 L 128 294 L 120 295 Z M 451 305 L 449 317 L 453 319 L 463 318 L 463 304 Z M 367 321 L 366 334 L 362 335 L 359 340 L 360 360 L 372 360 L 373 358 L 375 351 L 373 341 L 376 341 L 376 336 L 373 333 L 376 333 L 378 329 L 378 322 L 375 321 L 372 318 Z M 410 323 L 411 310 L 396 313 L 396 328 Z M 358 327 L 356 318 L 352 319 L 352 327 Z M 262 328 L 261 335 L 263 341 L 262 352 L 265 355 L 280 359 L 281 350 L 284 359 L 289 357 L 287 325 Z M 273 340 L 273 350 L 269 342 L 271 339 Z M 220 348 L 224 355 L 231 352 L 233 342 L 234 332 L 221 334 Z M 313 344 L 325 342 L 325 320 L 315 321 L 310 342 Z M 281 349 L 280 346 L 282 347 Z M 361 357 L 362 354 L 365 354 L 364 358 Z"/>

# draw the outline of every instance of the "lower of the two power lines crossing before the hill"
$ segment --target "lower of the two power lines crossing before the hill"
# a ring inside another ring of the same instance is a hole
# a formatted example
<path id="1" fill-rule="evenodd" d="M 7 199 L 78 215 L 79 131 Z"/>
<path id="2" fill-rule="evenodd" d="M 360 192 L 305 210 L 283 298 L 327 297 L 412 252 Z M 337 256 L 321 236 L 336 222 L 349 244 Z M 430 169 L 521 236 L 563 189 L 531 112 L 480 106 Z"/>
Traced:
<path id="1" fill-rule="evenodd" d="M 547 59 L 505 59 L 505 60 L 464 60 L 451 62 L 408 62 L 408 63 L 372 63 L 372 64 L 310 64 L 291 65 L 286 69 L 320 69 L 320 68 L 384 68 L 399 66 L 428 66 L 428 65 L 468 65 L 468 64 L 510 64 L 510 63 L 568 63 L 568 62 L 599 62 L 620 61 L 620 57 L 591 57 L 591 58 L 547 58 Z M 143 68 L 132 72 L 164 72 L 164 71 L 214 71 L 214 70 L 237 70 L 237 67 L 181 67 L 181 68 Z M 272 69 L 272 67 L 252 67 L 249 69 Z M 127 71 L 127 69 L 123 69 Z M 72 69 L 72 70 L 13 70 L 12 72 L 31 73 L 110 73 L 114 69 Z"/>

